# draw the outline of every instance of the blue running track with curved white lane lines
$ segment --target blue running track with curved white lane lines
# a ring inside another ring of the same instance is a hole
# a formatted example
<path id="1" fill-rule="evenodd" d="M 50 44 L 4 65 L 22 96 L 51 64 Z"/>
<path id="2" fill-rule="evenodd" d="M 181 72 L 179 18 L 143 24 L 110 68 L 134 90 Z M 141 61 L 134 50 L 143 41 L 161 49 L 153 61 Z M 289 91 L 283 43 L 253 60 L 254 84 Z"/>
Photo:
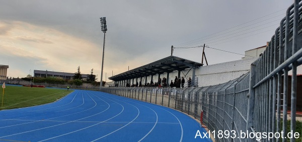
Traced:
<path id="1" fill-rule="evenodd" d="M 0 141 L 211 141 L 200 124 L 164 106 L 75 90 L 60 100 L 0 111 Z"/>

